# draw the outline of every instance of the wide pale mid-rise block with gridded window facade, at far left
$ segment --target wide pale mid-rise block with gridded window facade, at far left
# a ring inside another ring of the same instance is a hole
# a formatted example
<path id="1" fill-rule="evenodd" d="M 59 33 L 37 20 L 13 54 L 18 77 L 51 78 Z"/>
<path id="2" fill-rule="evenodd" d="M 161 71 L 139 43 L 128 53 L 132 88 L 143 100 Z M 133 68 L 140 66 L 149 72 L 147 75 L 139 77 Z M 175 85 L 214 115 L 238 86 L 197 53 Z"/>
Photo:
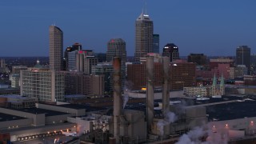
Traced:
<path id="1" fill-rule="evenodd" d="M 40 102 L 64 101 L 64 76 L 46 68 L 21 70 L 21 95 Z"/>

